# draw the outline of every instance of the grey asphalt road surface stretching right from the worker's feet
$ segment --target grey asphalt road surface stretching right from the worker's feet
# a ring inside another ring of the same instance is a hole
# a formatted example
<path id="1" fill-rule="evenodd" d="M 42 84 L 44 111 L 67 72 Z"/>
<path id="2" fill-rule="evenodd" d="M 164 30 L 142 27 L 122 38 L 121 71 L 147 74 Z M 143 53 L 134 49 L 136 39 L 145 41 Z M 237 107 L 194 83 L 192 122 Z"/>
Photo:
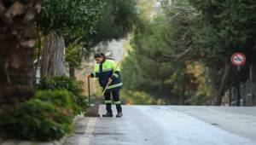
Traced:
<path id="1" fill-rule="evenodd" d="M 256 145 L 256 107 L 123 109 L 122 119 L 79 118 L 64 145 Z"/>

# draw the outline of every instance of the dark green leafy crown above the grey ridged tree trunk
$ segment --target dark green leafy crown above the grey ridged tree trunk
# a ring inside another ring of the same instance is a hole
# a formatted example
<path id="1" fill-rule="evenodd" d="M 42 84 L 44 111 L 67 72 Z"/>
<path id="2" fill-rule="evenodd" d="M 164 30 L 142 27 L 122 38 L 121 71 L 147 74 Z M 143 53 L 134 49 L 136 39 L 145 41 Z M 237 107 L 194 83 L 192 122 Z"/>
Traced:
<path id="1" fill-rule="evenodd" d="M 88 42 L 81 39 L 94 32 L 105 3 L 103 0 L 42 0 L 42 13 L 37 24 L 44 36 L 55 31 L 64 37 L 67 62 L 78 67 L 88 55 L 84 47 Z"/>

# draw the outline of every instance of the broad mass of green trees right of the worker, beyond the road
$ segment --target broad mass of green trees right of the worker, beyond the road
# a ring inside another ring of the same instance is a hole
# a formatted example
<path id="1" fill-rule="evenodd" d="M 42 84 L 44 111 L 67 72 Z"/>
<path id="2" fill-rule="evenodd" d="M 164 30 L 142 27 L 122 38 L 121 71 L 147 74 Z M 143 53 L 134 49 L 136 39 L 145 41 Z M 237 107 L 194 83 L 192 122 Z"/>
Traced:
<path id="1" fill-rule="evenodd" d="M 126 89 L 147 92 L 155 99 L 185 97 L 196 105 L 212 98 L 219 101 L 234 84 L 230 56 L 240 51 L 247 55 L 247 63 L 255 64 L 256 2 L 173 0 L 170 5 L 163 0 L 161 4 L 150 20 L 143 15 L 134 33 L 133 50 L 123 63 Z M 245 81 L 248 67 L 243 70 Z"/>

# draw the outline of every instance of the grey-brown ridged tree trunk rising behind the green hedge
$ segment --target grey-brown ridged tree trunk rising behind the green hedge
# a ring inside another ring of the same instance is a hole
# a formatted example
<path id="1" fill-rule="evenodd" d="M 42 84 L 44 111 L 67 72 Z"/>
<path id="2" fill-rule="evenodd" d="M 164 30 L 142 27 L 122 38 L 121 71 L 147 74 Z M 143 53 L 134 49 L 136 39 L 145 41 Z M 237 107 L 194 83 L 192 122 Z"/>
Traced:
<path id="1" fill-rule="evenodd" d="M 41 64 L 41 78 L 45 76 L 65 75 L 64 38 L 56 32 L 50 32 L 44 38 L 44 50 Z"/>

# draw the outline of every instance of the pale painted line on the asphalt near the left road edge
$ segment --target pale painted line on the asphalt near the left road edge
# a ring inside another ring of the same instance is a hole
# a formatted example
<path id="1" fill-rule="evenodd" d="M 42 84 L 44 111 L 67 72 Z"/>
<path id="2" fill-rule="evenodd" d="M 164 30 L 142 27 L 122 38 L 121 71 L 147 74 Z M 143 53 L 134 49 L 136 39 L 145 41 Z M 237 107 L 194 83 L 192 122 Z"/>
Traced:
<path id="1" fill-rule="evenodd" d="M 90 137 L 92 133 L 95 131 L 96 127 L 96 118 L 90 118 L 85 128 L 84 136 L 82 136 L 79 140 L 79 145 L 90 145 Z"/>

